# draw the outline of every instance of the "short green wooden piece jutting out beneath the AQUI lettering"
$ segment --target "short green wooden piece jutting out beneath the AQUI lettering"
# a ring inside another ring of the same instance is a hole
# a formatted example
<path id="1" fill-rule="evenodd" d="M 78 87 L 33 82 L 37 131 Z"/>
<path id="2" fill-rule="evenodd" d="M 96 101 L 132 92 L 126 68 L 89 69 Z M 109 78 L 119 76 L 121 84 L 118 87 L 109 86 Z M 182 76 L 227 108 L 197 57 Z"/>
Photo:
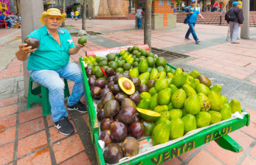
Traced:
<path id="1" fill-rule="evenodd" d="M 241 152 L 243 150 L 243 147 L 241 147 L 233 138 L 228 135 L 216 139 L 215 142 L 220 147 L 232 152 Z"/>

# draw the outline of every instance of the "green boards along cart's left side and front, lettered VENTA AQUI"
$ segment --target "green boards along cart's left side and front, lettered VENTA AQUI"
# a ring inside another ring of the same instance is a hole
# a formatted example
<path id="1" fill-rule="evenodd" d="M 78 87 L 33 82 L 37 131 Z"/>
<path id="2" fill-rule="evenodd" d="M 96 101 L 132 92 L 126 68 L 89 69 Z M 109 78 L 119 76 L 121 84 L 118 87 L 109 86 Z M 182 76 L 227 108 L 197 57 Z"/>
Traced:
<path id="1" fill-rule="evenodd" d="M 89 83 L 86 76 L 86 71 L 83 67 L 82 58 L 80 57 L 80 64 L 83 73 L 83 86 L 84 93 L 86 99 L 86 107 L 89 110 L 89 127 L 91 131 L 91 136 L 93 139 L 93 144 L 95 147 L 96 155 L 97 155 L 97 163 L 105 164 L 103 158 L 103 150 L 101 150 L 97 141 L 99 140 L 99 126 L 97 125 L 97 117 L 95 113 L 94 104 L 90 94 Z M 171 66 L 167 63 L 167 66 L 170 66 L 172 69 L 176 69 L 174 66 Z M 242 110 L 245 111 L 245 110 Z M 141 155 L 131 161 L 125 162 L 123 164 L 131 164 L 131 165 L 153 165 L 153 164 L 161 164 L 165 161 L 170 160 L 171 158 L 176 158 L 184 152 L 189 152 L 190 150 L 195 149 L 196 147 L 200 147 L 203 144 L 206 144 L 215 139 L 226 136 L 228 133 L 232 131 L 238 130 L 241 127 L 249 124 L 249 114 L 243 117 L 243 119 L 233 119 L 228 122 L 224 122 L 222 124 L 215 125 L 206 130 L 201 130 L 199 133 L 196 133 L 193 136 L 184 138 L 181 141 L 178 141 L 174 144 L 171 144 L 166 147 L 159 148 L 158 150 L 154 150 L 149 152 L 148 154 Z M 239 144 L 238 144 L 239 145 Z"/>

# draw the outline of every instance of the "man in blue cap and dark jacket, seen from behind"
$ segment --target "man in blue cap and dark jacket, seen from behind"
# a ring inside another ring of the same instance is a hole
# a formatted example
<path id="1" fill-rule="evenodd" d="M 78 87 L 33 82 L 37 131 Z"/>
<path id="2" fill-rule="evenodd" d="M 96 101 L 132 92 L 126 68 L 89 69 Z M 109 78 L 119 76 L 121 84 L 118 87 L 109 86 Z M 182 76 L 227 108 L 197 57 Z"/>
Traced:
<path id="1" fill-rule="evenodd" d="M 238 1 L 232 3 L 233 7 L 225 14 L 225 20 L 229 24 L 231 43 L 237 42 L 239 29 L 243 26 L 243 10 L 238 7 Z"/>

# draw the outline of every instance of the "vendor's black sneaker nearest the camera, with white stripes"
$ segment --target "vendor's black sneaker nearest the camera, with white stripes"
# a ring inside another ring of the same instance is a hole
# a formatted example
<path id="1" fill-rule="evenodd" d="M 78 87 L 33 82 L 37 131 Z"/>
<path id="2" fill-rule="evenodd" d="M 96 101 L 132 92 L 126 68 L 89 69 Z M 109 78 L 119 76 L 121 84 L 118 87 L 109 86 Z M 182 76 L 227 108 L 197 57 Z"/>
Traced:
<path id="1" fill-rule="evenodd" d="M 70 134 L 75 132 L 75 129 L 69 119 L 67 117 L 61 118 L 58 122 L 54 123 L 55 127 L 59 130 L 59 132 L 65 136 L 69 136 Z"/>

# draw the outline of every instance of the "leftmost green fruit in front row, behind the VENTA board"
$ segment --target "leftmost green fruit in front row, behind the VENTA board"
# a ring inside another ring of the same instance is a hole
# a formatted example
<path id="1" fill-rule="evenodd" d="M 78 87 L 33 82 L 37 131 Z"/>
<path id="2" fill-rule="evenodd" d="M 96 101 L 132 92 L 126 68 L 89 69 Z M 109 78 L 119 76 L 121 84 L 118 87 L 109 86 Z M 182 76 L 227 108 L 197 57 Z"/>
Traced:
<path id="1" fill-rule="evenodd" d="M 153 128 L 152 141 L 154 145 L 163 144 L 169 141 L 170 137 L 170 121 L 161 122 Z"/>

